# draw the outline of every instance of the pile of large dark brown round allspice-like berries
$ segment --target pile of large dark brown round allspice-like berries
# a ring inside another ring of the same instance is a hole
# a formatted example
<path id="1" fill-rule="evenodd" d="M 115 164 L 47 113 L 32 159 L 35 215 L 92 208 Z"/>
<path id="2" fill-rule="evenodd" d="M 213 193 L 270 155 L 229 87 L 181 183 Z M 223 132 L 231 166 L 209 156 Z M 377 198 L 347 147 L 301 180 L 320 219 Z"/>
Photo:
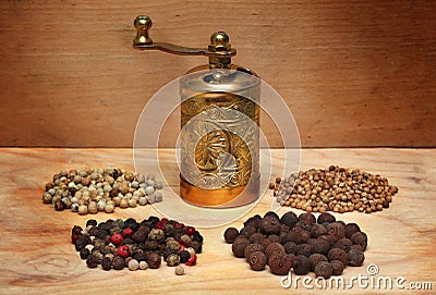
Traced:
<path id="1" fill-rule="evenodd" d="M 292 269 L 298 275 L 313 271 L 325 279 L 342 274 L 347 266 L 362 266 L 367 246 L 366 234 L 355 223 L 337 221 L 330 213 L 316 219 L 312 213 L 298 217 L 292 211 L 281 218 L 272 211 L 263 218 L 251 217 L 240 231 L 228 228 L 225 239 L 252 270 L 268 266 L 278 275 Z"/>

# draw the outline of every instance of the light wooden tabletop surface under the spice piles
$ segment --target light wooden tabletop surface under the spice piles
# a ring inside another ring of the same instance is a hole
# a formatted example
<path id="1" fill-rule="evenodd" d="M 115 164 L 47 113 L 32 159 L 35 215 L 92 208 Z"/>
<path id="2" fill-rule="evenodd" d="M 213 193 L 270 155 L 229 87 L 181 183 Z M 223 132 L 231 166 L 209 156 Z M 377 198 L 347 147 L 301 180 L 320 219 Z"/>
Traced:
<path id="1" fill-rule="evenodd" d="M 172 165 L 173 151 L 161 150 L 162 165 Z M 272 150 L 278 160 L 272 173 L 279 173 L 280 150 Z M 399 187 L 391 207 L 373 214 L 346 213 L 337 218 L 358 222 L 368 234 L 370 244 L 362 268 L 347 268 L 346 280 L 366 275 L 366 267 L 378 266 L 380 275 L 403 276 L 409 282 L 432 282 L 435 285 L 434 249 L 436 220 L 436 167 L 434 149 L 304 149 L 301 168 L 325 168 L 339 164 L 380 173 Z M 152 159 L 153 150 L 149 151 Z M 146 156 L 146 155 L 145 155 Z M 146 157 L 147 158 L 147 157 Z M 98 213 L 81 217 L 68 211 L 55 211 L 41 202 L 43 187 L 52 174 L 62 169 L 118 165 L 133 169 L 130 149 L 0 149 L 0 293 L 1 294 L 308 294 L 301 284 L 298 290 L 280 286 L 281 276 L 268 270 L 251 271 L 242 259 L 235 259 L 230 245 L 222 239 L 226 226 L 202 229 L 204 253 L 196 267 L 187 268 L 186 275 L 177 276 L 173 269 L 162 266 L 157 270 L 132 272 L 88 269 L 70 244 L 74 224 L 84 225 L 95 218 L 136 219 L 158 214 L 150 206 L 118 209 L 113 214 Z M 150 167 L 150 172 L 154 168 Z M 168 186 L 175 187 L 177 180 Z M 164 189 L 168 196 L 168 186 Z M 161 205 L 171 206 L 168 199 Z M 270 197 L 265 195 L 247 214 L 264 214 L 270 209 Z M 289 208 L 281 208 L 281 216 Z M 300 210 L 294 210 L 300 213 Z M 241 218 L 227 226 L 242 228 Z M 313 274 L 311 274 L 313 278 Z M 315 288 L 315 292 L 317 290 Z M 341 294 L 398 294 L 398 290 L 377 291 L 354 288 Z M 404 294 L 412 294 L 403 291 Z M 434 292 L 434 291 L 433 291 Z M 337 294 L 324 290 L 323 294 Z M 429 294 L 414 291 L 413 294 Z"/>

